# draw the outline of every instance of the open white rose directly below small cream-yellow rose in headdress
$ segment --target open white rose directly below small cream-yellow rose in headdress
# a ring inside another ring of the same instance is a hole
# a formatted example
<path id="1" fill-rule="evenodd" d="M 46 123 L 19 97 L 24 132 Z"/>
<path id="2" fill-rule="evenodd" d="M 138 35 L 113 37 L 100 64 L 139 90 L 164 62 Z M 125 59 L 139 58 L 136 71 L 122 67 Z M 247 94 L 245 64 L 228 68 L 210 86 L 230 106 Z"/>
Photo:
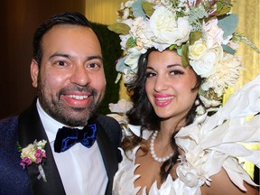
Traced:
<path id="1" fill-rule="evenodd" d="M 223 51 L 221 46 L 205 51 L 197 60 L 190 60 L 190 66 L 202 78 L 208 78 L 216 72 L 216 64 L 222 59 Z"/>

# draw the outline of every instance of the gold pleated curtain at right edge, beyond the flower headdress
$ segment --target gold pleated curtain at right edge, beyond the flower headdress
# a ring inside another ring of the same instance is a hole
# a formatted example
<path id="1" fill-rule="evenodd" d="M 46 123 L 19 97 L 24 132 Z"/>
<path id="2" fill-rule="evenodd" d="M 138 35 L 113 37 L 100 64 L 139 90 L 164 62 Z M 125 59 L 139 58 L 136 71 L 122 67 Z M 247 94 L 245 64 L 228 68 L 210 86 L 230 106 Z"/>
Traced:
<path id="1" fill-rule="evenodd" d="M 259 40 L 259 26 L 260 26 L 260 15 L 259 15 L 259 0 L 237 0 L 233 3 L 234 14 L 238 14 L 239 22 L 237 32 L 243 32 L 250 41 L 254 42 L 257 48 L 260 48 Z M 244 43 L 240 44 L 237 51 L 237 55 L 242 56 L 243 66 L 246 70 L 242 71 L 242 76 L 237 82 L 235 88 L 228 88 L 226 95 L 224 96 L 224 102 L 226 102 L 237 88 L 241 88 L 246 82 L 254 79 L 256 75 L 260 74 L 260 55 L 253 51 L 249 46 Z"/>

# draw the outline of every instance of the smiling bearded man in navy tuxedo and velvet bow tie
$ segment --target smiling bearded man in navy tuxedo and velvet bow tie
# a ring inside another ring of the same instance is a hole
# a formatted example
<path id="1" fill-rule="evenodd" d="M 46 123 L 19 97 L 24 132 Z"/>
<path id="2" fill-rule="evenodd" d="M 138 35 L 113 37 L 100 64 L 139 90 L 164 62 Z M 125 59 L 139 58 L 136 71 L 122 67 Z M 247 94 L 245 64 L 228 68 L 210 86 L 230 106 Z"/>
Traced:
<path id="1" fill-rule="evenodd" d="M 121 131 L 114 119 L 94 114 L 106 78 L 98 36 L 85 16 L 63 13 L 42 23 L 31 77 L 38 98 L 0 122 L 0 194 L 111 194 Z M 41 155 L 28 153 L 35 140 L 46 141 Z M 16 143 L 26 148 L 23 161 Z"/>

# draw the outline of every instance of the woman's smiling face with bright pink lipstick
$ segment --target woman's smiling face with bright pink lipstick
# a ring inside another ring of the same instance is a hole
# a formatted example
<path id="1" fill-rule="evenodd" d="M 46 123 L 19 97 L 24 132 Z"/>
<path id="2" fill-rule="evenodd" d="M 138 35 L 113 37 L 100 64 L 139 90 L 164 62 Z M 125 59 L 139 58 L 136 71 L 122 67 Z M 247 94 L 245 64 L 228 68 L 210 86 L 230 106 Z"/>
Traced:
<path id="1" fill-rule="evenodd" d="M 182 67 L 175 51 L 152 51 L 148 56 L 145 90 L 157 116 L 186 116 L 198 94 L 192 90 L 196 83 L 195 72 Z"/>

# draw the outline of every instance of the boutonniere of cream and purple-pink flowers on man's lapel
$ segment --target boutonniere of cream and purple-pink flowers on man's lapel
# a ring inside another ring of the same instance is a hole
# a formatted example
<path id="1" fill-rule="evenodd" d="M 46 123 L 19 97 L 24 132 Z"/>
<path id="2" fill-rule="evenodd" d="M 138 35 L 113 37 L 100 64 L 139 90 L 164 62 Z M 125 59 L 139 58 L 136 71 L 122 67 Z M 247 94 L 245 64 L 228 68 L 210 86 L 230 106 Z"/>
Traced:
<path id="1" fill-rule="evenodd" d="M 46 140 L 41 140 L 39 142 L 35 140 L 32 144 L 28 144 L 24 148 L 22 148 L 18 144 L 18 151 L 21 152 L 21 159 L 22 159 L 20 165 L 23 166 L 23 169 L 25 169 L 26 165 L 27 166 L 38 165 L 38 169 L 40 173 L 37 179 L 40 180 L 42 178 L 42 180 L 45 182 L 47 180 L 42 168 L 43 165 L 42 160 L 46 158 L 46 152 L 44 150 L 46 143 L 47 143 Z"/>

